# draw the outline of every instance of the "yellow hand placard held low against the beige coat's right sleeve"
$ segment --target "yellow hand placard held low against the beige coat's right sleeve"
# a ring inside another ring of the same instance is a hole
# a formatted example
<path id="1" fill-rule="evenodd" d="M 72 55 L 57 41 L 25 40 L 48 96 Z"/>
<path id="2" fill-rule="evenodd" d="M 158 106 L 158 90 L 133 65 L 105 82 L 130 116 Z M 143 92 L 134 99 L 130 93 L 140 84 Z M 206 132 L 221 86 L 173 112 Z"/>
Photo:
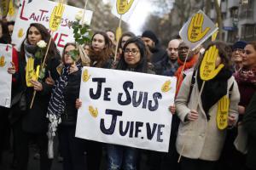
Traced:
<path id="1" fill-rule="evenodd" d="M 224 95 L 222 99 L 218 100 L 218 111 L 217 111 L 217 126 L 218 129 L 223 130 L 228 127 L 228 117 L 230 109 L 230 99 L 227 95 Z"/>

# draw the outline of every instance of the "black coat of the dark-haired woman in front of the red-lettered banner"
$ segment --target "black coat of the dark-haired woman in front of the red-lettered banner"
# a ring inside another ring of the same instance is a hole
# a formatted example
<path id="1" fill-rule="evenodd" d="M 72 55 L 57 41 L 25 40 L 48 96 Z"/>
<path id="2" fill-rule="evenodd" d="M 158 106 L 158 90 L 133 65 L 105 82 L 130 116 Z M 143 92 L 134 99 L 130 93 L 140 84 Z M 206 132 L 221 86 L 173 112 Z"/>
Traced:
<path id="1" fill-rule="evenodd" d="M 34 69 L 40 64 L 39 60 L 35 60 Z M 23 130 L 28 133 L 46 133 L 48 131 L 48 119 L 46 112 L 49 105 L 49 98 L 52 86 L 45 83 L 46 77 L 50 76 L 55 80 L 59 77 L 56 67 L 60 65 L 60 58 L 55 57 L 46 61 L 45 76 L 42 80 L 43 91 L 37 92 L 34 99 L 32 109 L 29 106 L 32 101 L 33 88 L 26 87 L 26 59 L 19 54 L 19 72 L 15 75 L 18 85 L 15 94 L 25 92 L 26 94 L 26 111 L 19 111 L 19 105 L 14 105 L 13 119 L 22 119 Z M 14 94 L 14 95 L 15 95 Z"/>

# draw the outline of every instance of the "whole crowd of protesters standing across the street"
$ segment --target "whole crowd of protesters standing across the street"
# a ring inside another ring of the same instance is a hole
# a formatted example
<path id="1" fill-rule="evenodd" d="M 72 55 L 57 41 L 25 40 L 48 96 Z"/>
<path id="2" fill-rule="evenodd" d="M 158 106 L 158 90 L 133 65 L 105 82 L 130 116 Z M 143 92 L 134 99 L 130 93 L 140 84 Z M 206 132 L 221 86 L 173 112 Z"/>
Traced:
<path id="1" fill-rule="evenodd" d="M 0 43 L 12 44 L 14 25 L 13 21 L 0 21 Z M 139 37 L 125 32 L 118 41 L 113 31 L 95 31 L 90 43 L 79 49 L 83 53 L 78 59 L 69 53 L 78 48 L 74 42 L 67 42 L 60 54 L 52 40 L 42 81 L 32 80 L 28 86 L 26 63 L 34 58 L 36 70 L 42 61 L 35 57 L 40 40 L 49 42 L 49 31 L 32 23 L 19 52 L 12 44 L 8 69 L 13 77 L 12 102 L 9 109 L 0 107 L 0 154 L 11 142 L 15 169 L 28 168 L 31 141 L 39 150 L 40 170 L 52 169 L 49 123 L 56 128 L 64 170 L 256 169 L 256 41 L 207 42 L 191 51 L 179 37 L 162 48 L 153 31 L 143 31 Z M 218 48 L 216 69 L 224 66 L 201 91 L 204 82 L 199 68 L 204 52 L 212 46 Z M 172 114 L 168 153 L 75 137 L 78 109 L 83 105 L 79 99 L 83 66 L 177 77 L 175 104 L 168 105 Z M 37 94 L 30 108 L 33 91 Z M 230 100 L 228 127 L 219 129 L 218 101 L 224 96 Z"/>

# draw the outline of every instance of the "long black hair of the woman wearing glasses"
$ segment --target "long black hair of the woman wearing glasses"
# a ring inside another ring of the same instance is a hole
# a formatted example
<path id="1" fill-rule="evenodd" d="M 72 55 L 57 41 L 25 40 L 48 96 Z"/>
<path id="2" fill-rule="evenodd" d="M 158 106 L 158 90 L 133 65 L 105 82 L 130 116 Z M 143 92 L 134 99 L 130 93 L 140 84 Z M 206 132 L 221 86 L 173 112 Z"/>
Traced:
<path id="1" fill-rule="evenodd" d="M 125 42 L 123 51 L 125 50 L 127 45 L 130 43 L 135 43 L 137 48 L 139 48 L 139 52 L 141 54 L 141 59 L 138 62 L 137 66 L 135 68 L 135 71 L 148 73 L 148 60 L 147 60 L 147 55 L 146 55 L 146 47 L 145 47 L 143 40 L 140 39 L 139 37 L 131 37 L 129 40 L 127 40 Z M 116 69 L 125 71 L 125 70 L 127 70 L 127 68 L 128 68 L 128 65 L 125 62 L 125 53 L 122 53 L 120 56 L 119 64 L 117 65 Z"/>

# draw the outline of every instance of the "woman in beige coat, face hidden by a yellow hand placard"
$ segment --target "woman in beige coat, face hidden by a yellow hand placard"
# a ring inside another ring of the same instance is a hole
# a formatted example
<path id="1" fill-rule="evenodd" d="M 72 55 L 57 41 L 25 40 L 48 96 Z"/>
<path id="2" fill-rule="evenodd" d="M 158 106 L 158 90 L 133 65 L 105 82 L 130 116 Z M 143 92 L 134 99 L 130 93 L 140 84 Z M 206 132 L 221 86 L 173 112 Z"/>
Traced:
<path id="1" fill-rule="evenodd" d="M 212 42 L 204 58 L 212 59 L 216 76 L 203 81 L 199 69 L 195 74 L 189 73 L 177 94 L 175 105 L 181 122 L 176 146 L 182 156 L 182 170 L 215 169 L 226 129 L 236 123 L 240 94 L 230 69 L 230 53 L 230 47 L 224 42 Z"/>

